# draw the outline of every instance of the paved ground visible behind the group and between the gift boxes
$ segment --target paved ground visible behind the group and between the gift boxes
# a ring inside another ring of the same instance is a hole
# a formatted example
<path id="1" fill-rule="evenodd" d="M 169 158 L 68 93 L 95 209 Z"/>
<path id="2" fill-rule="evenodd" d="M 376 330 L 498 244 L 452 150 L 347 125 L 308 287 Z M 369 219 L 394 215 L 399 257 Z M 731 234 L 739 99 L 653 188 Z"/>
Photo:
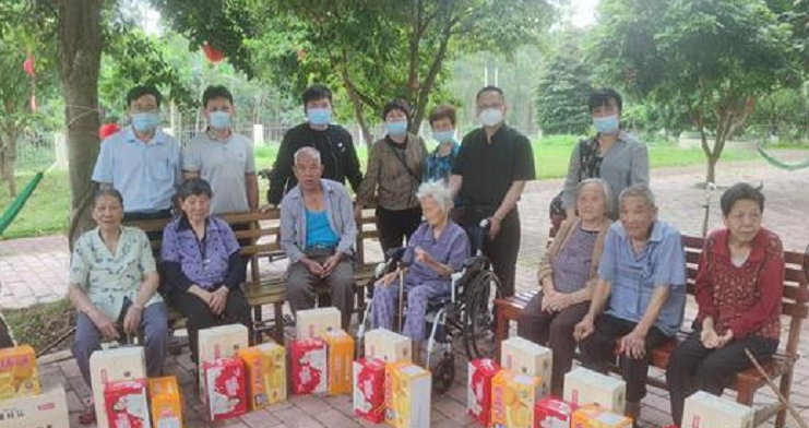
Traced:
<path id="1" fill-rule="evenodd" d="M 778 233 L 788 250 L 806 249 L 809 243 L 809 228 L 802 224 L 809 210 L 809 171 L 786 173 L 766 166 L 761 162 L 719 165 L 721 187 L 736 181 L 762 182 L 766 194 L 765 222 L 768 227 Z M 661 206 L 659 217 L 673 223 L 685 234 L 699 235 L 702 227 L 704 191 L 695 185 L 704 177 L 704 167 L 655 169 L 653 190 Z M 534 284 L 536 266 L 545 248 L 548 230 L 547 205 L 561 186 L 560 180 L 545 180 L 528 186 L 520 202 L 523 235 L 517 270 L 517 285 L 530 288 Z M 713 198 L 711 228 L 721 225 L 718 210 L 719 192 Z M 376 252 L 379 257 L 379 252 Z M 67 265 L 69 254 L 63 237 L 43 237 L 0 242 L 0 307 L 25 307 L 37 301 L 58 299 L 67 288 Z M 283 266 L 262 265 L 262 271 L 281 272 Z M 809 331 L 805 323 L 804 333 Z M 809 334 L 804 334 L 809 337 Z M 801 354 L 809 355 L 809 338 L 801 344 Z M 456 358 L 456 381 L 450 392 L 433 397 L 432 426 L 436 428 L 472 426 L 465 414 L 466 360 Z M 274 406 L 227 424 L 210 425 L 203 421 L 203 408 L 193 392 L 192 369 L 188 353 L 169 357 L 167 370 L 176 374 L 185 390 L 187 400 L 188 427 L 359 427 L 371 426 L 356 420 L 350 412 L 350 397 L 295 396 L 287 403 Z M 76 418 L 84 408 L 90 391 L 81 381 L 75 361 L 64 359 L 45 362 L 41 372 L 46 378 L 60 381 L 69 389 L 71 426 L 78 427 Z M 654 371 L 652 376 L 662 376 Z M 766 388 L 757 394 L 757 405 L 774 401 Z M 809 362 L 799 360 L 793 388 L 795 405 L 809 407 Z M 650 390 L 643 402 L 641 426 L 658 427 L 670 424 L 668 399 L 665 391 Z M 809 411 L 802 412 L 809 418 Z M 772 424 L 770 424 L 771 426 Z M 792 420 L 788 427 L 797 427 Z"/>

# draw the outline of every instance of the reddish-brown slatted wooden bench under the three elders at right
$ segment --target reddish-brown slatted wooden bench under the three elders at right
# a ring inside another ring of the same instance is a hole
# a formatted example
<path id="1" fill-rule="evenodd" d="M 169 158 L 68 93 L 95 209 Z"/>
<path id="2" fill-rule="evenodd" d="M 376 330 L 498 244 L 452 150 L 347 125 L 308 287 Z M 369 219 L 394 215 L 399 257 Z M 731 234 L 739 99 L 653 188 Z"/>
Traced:
<path id="1" fill-rule="evenodd" d="M 702 252 L 704 240 L 698 237 L 685 236 L 682 238 L 682 243 L 686 249 L 686 262 L 688 269 L 688 294 L 693 296 L 694 280 L 697 277 L 699 258 Z M 784 297 L 781 314 L 782 326 L 788 329 L 788 335 L 786 344 L 784 344 L 784 341 L 781 342 L 780 349 L 773 359 L 762 365 L 764 371 L 766 371 L 771 379 L 781 378 L 780 391 L 785 397 L 789 396 L 789 390 L 792 389 L 793 370 L 795 362 L 799 358 L 798 343 L 800 341 L 801 325 L 804 319 L 807 318 L 808 312 L 807 302 L 809 301 L 809 285 L 807 284 L 807 277 L 802 271 L 805 257 L 806 255 L 798 252 L 784 252 L 786 272 L 784 277 Z M 498 344 L 498 353 L 500 349 L 499 343 L 509 335 L 511 322 L 515 322 L 520 319 L 525 305 L 534 297 L 534 295 L 536 295 L 536 293 L 538 293 L 538 287 L 537 290 L 523 292 L 513 297 L 495 301 L 497 307 L 495 338 Z M 688 336 L 690 333 L 690 321 L 685 322 L 683 330 L 677 334 L 676 340 L 668 341 L 652 352 L 652 366 L 661 369 L 665 369 L 666 366 L 668 366 L 668 359 L 671 352 L 677 347 L 678 343 Z M 649 383 L 654 387 L 666 389 L 665 382 L 657 379 L 650 378 Z M 750 406 L 752 405 L 756 391 L 765 384 L 766 380 L 764 377 L 761 376 L 756 368 L 749 368 L 736 376 L 736 381 L 731 388 L 737 392 L 736 401 Z M 775 420 L 775 427 L 782 428 L 786 418 L 786 408 L 781 406 L 778 403 L 763 409 L 761 414 L 757 415 L 757 420 L 766 420 L 776 413 L 777 418 Z M 761 416 L 761 418 L 758 416 Z"/>

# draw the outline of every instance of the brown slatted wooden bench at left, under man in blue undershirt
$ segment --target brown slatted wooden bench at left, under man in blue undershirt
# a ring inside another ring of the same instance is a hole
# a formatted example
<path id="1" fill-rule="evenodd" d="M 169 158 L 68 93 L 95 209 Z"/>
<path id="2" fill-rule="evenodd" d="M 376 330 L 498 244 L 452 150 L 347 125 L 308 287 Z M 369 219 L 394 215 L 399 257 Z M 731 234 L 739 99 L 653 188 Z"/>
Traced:
<path id="1" fill-rule="evenodd" d="M 278 242 L 281 229 L 281 212 L 270 210 L 266 212 L 229 213 L 217 215 L 235 229 L 236 238 L 249 240 L 251 245 L 241 247 L 241 254 L 250 258 L 250 276 L 245 283 L 245 296 L 253 310 L 254 340 L 261 342 L 261 333 L 270 330 L 273 338 L 284 343 L 284 302 L 286 302 L 286 282 L 283 275 L 273 277 L 261 277 L 259 259 L 269 257 L 270 260 L 283 253 Z M 168 219 L 151 219 L 129 222 L 127 226 L 134 226 L 144 231 L 162 231 L 168 224 Z M 355 293 L 357 304 L 355 312 L 358 317 L 365 313 L 365 287 L 371 282 L 376 261 L 366 261 L 365 240 L 378 237 L 372 211 L 364 211 L 361 218 L 357 218 L 357 242 L 355 263 Z M 160 238 L 152 239 L 152 249 L 158 251 Z M 328 296 L 329 290 L 321 288 L 320 296 Z M 273 307 L 273 319 L 264 320 L 262 308 Z M 174 328 L 185 325 L 185 317 L 169 306 L 169 322 Z"/>

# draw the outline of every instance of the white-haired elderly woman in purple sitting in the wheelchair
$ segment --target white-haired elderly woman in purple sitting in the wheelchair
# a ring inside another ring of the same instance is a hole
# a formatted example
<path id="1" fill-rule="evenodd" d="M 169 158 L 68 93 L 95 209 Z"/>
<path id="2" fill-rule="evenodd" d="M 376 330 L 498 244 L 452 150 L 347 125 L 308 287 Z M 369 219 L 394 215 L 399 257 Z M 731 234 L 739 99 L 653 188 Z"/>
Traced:
<path id="1" fill-rule="evenodd" d="M 450 295 L 450 275 L 469 255 L 469 238 L 450 219 L 452 194 L 441 182 L 421 185 L 416 197 L 427 221 L 407 241 L 403 258 L 409 265 L 404 275 L 407 316 L 403 334 L 418 344 L 427 338 L 427 301 Z M 397 273 L 386 274 L 377 285 L 371 306 L 373 325 L 392 330 L 400 293 Z"/>

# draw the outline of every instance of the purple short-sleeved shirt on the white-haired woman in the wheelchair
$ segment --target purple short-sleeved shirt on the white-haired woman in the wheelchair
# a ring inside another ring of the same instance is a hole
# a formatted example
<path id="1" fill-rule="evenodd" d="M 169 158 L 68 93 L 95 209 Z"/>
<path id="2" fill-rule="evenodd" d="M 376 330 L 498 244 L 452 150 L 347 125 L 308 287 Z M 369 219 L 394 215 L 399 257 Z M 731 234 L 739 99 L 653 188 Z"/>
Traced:
<path id="1" fill-rule="evenodd" d="M 425 263 L 416 261 L 416 248 L 421 248 L 430 254 L 437 262 L 443 263 L 457 271 L 463 265 L 464 260 L 469 257 L 469 238 L 463 227 L 456 225 L 451 219 L 441 230 L 438 239 L 432 233 L 432 226 L 429 223 L 421 223 L 407 240 L 402 261 L 411 265 L 407 270 L 405 282 L 411 285 L 419 285 L 427 282 L 444 282 L 450 284 L 450 278 L 438 274 L 432 268 Z"/>

